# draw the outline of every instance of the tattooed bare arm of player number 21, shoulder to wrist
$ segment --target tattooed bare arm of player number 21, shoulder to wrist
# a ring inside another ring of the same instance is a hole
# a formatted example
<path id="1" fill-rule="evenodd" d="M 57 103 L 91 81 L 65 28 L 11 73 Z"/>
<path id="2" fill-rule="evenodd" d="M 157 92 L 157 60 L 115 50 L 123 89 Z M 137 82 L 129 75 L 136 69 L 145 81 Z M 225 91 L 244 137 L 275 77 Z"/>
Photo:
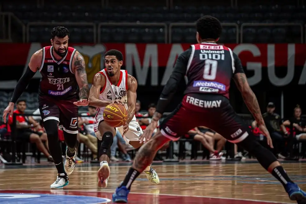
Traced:
<path id="1" fill-rule="evenodd" d="M 79 93 L 80 100 L 88 99 L 89 86 L 88 86 L 87 74 L 85 69 L 85 60 L 78 51 L 76 51 L 76 53 L 73 56 L 72 64 L 73 64 L 72 70 L 74 70 L 76 81 L 80 88 L 80 93 Z"/>

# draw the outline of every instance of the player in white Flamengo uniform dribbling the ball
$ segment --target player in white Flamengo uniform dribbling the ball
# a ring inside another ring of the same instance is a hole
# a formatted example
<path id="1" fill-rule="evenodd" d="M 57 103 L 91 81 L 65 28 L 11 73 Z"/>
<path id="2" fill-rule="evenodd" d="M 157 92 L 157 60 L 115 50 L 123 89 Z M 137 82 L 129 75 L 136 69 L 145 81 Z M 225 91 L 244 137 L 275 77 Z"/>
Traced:
<path id="1" fill-rule="evenodd" d="M 100 187 L 107 186 L 110 174 L 108 165 L 111 153 L 110 147 L 113 144 L 116 132 L 119 131 L 127 143 L 130 143 L 134 148 L 141 146 L 139 138 L 142 134 L 142 129 L 135 117 L 137 81 L 126 70 L 120 70 L 122 64 L 123 55 L 120 51 L 109 50 L 106 52 L 106 68 L 95 74 L 92 87 L 90 88 L 89 105 L 97 107 L 98 110 L 96 115 L 97 123 L 94 130 L 99 140 L 102 140 L 99 150 L 100 169 L 98 171 Z M 128 110 L 128 120 L 119 128 L 109 126 L 103 119 L 105 106 L 114 102 L 123 104 Z M 151 168 L 151 165 L 144 172 L 147 179 L 152 183 L 158 184 L 160 182 L 157 173 Z"/>

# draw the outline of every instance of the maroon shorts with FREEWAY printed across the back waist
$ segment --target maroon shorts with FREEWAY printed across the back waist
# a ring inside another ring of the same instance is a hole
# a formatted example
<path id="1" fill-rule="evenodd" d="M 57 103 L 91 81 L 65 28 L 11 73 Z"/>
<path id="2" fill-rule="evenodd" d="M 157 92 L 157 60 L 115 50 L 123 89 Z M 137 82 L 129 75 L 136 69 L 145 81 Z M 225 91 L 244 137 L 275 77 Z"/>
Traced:
<path id="1" fill-rule="evenodd" d="M 189 130 L 206 126 L 233 143 L 244 140 L 250 133 L 229 100 L 213 94 L 189 93 L 160 125 L 160 131 L 171 140 L 178 140 Z"/>

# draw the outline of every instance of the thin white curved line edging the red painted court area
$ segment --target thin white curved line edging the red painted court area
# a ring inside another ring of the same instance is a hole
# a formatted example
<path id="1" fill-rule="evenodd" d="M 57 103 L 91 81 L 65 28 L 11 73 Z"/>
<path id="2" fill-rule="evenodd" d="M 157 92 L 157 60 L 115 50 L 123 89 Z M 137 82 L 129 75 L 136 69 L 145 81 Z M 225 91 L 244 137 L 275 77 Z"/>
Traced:
<path id="1" fill-rule="evenodd" d="M 6 191 L 6 190 L 0 190 L 0 192 L 1 191 Z M 37 190 L 37 189 L 18 190 L 18 189 L 14 189 L 14 190 L 8 190 L 8 191 L 50 191 L 50 190 Z M 64 190 L 64 191 L 112 193 L 112 192 L 108 192 L 108 191 L 82 191 L 82 190 Z M 238 201 L 251 201 L 251 202 L 292 204 L 292 203 L 289 203 L 289 202 L 262 201 L 262 200 L 253 200 L 253 199 L 243 199 L 243 198 L 226 198 L 226 197 L 212 197 L 212 196 L 188 196 L 188 195 L 160 194 L 160 193 L 137 193 L 137 192 L 130 192 L 130 193 L 132 193 L 132 194 L 144 194 L 144 195 L 155 195 L 155 196 L 200 197 L 200 198 L 214 198 L 214 199 L 223 199 L 223 200 L 238 200 Z"/>

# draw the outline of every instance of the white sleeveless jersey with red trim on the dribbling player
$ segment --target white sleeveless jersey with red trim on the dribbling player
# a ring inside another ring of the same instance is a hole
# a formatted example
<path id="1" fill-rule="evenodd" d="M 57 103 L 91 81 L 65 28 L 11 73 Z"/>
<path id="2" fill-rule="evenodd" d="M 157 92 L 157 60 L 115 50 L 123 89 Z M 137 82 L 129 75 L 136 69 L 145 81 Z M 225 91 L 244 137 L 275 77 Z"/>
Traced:
<path id="1" fill-rule="evenodd" d="M 105 77 L 105 85 L 100 91 L 99 99 L 103 101 L 114 101 L 118 100 L 125 108 L 128 110 L 128 71 L 127 70 L 120 70 L 120 78 L 119 82 L 114 85 L 107 74 L 106 69 L 103 69 L 99 72 Z M 102 116 L 103 118 L 103 111 L 105 107 L 97 108 L 96 120 L 98 121 L 98 117 Z"/>

